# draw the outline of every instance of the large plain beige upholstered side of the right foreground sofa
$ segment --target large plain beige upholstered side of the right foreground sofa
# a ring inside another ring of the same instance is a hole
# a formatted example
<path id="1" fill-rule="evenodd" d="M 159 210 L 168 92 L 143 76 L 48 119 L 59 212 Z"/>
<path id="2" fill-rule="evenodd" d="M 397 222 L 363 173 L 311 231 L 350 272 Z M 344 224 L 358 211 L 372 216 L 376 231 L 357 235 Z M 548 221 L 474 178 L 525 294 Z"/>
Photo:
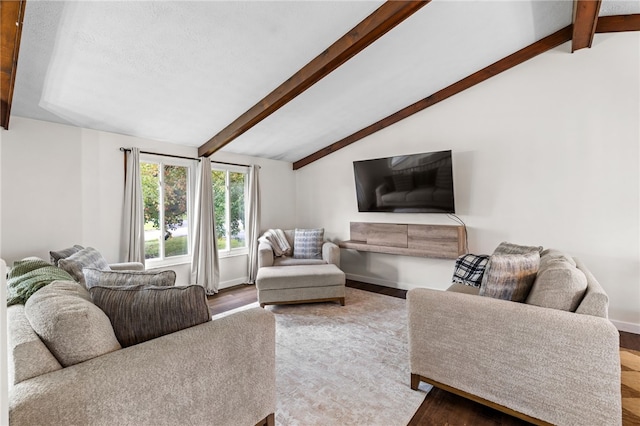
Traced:
<path id="1" fill-rule="evenodd" d="M 448 291 L 407 298 L 412 374 L 554 424 L 620 424 L 607 319 Z"/>

